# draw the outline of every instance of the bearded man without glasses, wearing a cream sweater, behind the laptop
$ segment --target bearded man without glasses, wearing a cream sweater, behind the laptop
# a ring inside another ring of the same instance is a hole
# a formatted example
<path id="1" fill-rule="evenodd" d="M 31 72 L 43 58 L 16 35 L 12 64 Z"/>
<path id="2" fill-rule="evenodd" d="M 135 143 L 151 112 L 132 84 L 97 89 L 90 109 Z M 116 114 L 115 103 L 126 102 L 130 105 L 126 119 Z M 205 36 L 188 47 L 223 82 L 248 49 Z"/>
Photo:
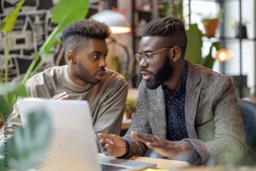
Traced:
<path id="1" fill-rule="evenodd" d="M 120 134 L 128 92 L 125 78 L 105 69 L 109 26 L 94 19 L 74 21 L 61 32 L 68 65 L 52 67 L 25 84 L 32 97 L 87 100 L 96 134 Z M 21 126 L 17 104 L 8 119 L 9 134 Z M 4 139 L 4 130 L 0 131 Z M 95 136 L 95 139 L 97 137 Z M 99 140 L 99 139 L 98 139 Z"/>

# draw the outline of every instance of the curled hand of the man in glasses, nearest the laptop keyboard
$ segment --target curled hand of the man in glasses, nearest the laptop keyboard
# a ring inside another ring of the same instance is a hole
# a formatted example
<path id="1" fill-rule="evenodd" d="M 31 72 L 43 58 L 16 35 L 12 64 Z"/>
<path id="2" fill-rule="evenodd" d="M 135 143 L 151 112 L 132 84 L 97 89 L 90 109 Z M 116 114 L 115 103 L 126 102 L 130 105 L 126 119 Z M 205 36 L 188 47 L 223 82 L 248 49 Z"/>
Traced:
<path id="1" fill-rule="evenodd" d="M 121 157 L 126 153 L 126 144 L 122 137 L 115 134 L 101 134 L 98 136 L 103 138 L 99 141 L 101 151 L 105 156 L 109 157 Z"/>

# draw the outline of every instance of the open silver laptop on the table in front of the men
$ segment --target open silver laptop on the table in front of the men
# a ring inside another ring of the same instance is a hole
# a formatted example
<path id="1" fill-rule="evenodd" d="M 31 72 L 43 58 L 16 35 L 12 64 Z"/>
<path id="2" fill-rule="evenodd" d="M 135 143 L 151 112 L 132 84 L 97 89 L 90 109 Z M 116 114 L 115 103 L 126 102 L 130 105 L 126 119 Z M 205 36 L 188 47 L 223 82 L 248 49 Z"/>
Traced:
<path id="1" fill-rule="evenodd" d="M 45 109 L 51 117 L 48 149 L 34 170 L 143 170 L 156 166 L 154 163 L 98 156 L 91 110 L 85 100 L 25 98 L 18 100 L 18 108 L 23 125 L 27 124 L 27 114 L 38 109 Z"/>

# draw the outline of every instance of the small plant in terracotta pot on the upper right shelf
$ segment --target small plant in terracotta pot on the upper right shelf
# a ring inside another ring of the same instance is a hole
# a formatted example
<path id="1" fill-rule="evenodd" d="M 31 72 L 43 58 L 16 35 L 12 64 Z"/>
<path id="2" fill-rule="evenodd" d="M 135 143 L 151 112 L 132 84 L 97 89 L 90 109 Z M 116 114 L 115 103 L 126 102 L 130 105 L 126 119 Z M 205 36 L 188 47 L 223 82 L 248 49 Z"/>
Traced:
<path id="1" fill-rule="evenodd" d="M 205 36 L 208 38 L 215 37 L 215 31 L 219 26 L 220 21 L 222 20 L 221 16 L 223 14 L 223 9 L 221 8 L 220 11 L 216 15 L 201 15 L 202 23 L 204 25 Z"/>

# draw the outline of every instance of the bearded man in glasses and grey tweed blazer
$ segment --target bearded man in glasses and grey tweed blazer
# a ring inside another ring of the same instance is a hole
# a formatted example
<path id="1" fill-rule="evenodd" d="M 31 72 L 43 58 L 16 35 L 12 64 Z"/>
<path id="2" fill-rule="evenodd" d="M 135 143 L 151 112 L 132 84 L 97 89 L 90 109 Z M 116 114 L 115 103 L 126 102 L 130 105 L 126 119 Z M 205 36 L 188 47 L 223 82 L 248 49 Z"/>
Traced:
<path id="1" fill-rule="evenodd" d="M 136 112 L 124 137 L 99 134 L 106 156 L 144 156 L 190 164 L 250 164 L 243 120 L 229 76 L 184 58 L 184 22 L 175 17 L 148 23 L 136 54 L 142 68 Z"/>

